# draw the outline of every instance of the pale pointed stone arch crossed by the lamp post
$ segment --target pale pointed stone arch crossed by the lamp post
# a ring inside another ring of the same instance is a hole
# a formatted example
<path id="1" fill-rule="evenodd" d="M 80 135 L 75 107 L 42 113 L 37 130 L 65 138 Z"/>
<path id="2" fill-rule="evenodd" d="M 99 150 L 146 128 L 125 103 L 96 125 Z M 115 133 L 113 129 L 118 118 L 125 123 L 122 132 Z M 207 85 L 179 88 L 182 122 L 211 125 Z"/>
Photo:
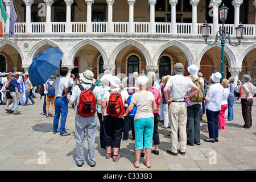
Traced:
<path id="1" fill-rule="evenodd" d="M 202 49 L 202 51 L 200 52 L 199 56 L 197 57 L 196 65 L 198 67 L 200 67 L 200 62 L 201 62 L 201 59 L 202 59 L 203 55 L 205 54 L 205 52 L 207 52 L 209 49 L 211 49 L 213 47 L 218 47 L 218 48 L 221 49 L 221 44 L 217 43 L 215 46 L 208 46 L 208 45 L 206 45 Z M 230 47 L 226 46 L 226 45 L 225 45 L 225 56 L 228 59 L 229 66 L 230 67 L 236 67 L 236 65 L 237 65 L 236 64 L 236 56 L 234 55 L 234 52 L 232 51 L 232 49 L 230 49 Z"/>

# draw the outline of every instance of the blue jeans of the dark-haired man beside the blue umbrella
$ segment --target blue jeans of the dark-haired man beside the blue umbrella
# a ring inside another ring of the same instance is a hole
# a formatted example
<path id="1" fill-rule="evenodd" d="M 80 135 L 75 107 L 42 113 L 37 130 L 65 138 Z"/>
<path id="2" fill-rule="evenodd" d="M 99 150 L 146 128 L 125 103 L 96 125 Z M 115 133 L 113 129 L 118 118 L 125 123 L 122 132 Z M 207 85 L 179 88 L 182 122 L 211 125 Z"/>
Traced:
<path id="1" fill-rule="evenodd" d="M 67 97 L 56 97 L 55 102 L 55 117 L 53 119 L 53 132 L 57 131 L 60 119 L 60 134 L 65 132 L 65 124 L 68 115 L 68 98 Z"/>

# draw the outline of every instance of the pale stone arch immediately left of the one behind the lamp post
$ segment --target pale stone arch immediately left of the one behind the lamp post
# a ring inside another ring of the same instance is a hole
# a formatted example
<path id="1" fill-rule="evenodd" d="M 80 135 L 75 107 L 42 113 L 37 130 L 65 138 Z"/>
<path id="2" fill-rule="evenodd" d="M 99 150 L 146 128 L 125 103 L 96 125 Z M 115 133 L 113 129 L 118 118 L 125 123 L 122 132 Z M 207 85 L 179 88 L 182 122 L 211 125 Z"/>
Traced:
<path id="1" fill-rule="evenodd" d="M 175 46 L 179 49 L 181 49 L 181 51 L 183 51 L 184 55 L 187 58 L 187 62 L 188 65 L 193 64 L 193 54 L 192 52 L 189 50 L 189 48 L 187 46 L 185 46 L 184 43 L 180 42 L 179 40 L 170 40 L 167 43 L 163 44 L 163 46 L 161 46 L 158 51 L 155 53 L 154 59 L 153 59 L 153 65 L 158 65 L 158 60 L 159 60 L 159 56 L 161 55 L 161 53 L 167 49 L 168 47 L 171 46 Z"/>

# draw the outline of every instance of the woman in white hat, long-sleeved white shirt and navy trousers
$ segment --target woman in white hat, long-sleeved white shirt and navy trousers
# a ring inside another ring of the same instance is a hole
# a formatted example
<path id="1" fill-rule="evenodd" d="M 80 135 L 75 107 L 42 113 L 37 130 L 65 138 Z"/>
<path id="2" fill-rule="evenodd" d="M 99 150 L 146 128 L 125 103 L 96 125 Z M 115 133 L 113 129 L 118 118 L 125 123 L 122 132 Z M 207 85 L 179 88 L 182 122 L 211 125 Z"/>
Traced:
<path id="1" fill-rule="evenodd" d="M 210 86 L 207 96 L 205 97 L 206 113 L 208 119 L 209 138 L 205 142 L 218 142 L 218 115 L 221 110 L 223 86 L 220 84 L 221 73 L 213 73 L 212 81 L 214 84 Z"/>

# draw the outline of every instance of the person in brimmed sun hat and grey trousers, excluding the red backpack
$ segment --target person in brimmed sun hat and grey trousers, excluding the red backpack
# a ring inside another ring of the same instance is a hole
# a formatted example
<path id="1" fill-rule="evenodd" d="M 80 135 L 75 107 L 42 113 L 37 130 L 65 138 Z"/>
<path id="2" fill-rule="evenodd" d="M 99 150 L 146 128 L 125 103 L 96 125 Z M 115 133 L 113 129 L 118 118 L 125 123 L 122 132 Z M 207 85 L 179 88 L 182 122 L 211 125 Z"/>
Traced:
<path id="1" fill-rule="evenodd" d="M 80 78 L 82 80 L 81 84 L 74 87 L 72 96 L 69 100 L 69 104 L 79 104 L 79 98 L 83 88 L 90 89 L 92 85 L 95 83 L 95 79 L 93 78 L 93 72 L 86 70 L 84 73 L 80 73 Z M 101 94 L 98 86 L 92 90 L 95 96 L 96 104 L 101 105 Z M 96 130 L 97 130 L 97 117 L 96 113 L 92 117 L 82 117 L 79 114 L 76 114 L 76 162 L 77 166 L 81 167 L 84 164 L 84 139 L 85 132 L 88 142 L 88 160 L 90 163 L 90 167 L 94 167 L 96 164 L 95 152 L 94 152 L 94 143 L 96 138 Z M 86 131 L 85 131 L 86 130 Z"/>

